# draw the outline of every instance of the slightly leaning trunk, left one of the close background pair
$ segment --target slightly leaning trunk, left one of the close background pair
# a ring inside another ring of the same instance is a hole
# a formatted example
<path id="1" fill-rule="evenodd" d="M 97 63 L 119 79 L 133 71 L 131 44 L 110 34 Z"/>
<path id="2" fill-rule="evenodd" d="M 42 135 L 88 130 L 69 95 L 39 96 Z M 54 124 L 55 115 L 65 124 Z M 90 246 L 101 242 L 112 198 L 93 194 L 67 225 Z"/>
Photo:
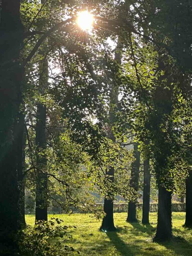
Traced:
<path id="1" fill-rule="evenodd" d="M 136 191 L 138 191 L 140 167 L 140 152 L 138 151 L 138 143 L 134 143 L 133 156 L 135 157 L 135 161 L 132 163 L 130 186 L 134 188 Z M 129 202 L 128 204 L 128 214 L 126 221 L 137 222 L 135 202 Z"/>

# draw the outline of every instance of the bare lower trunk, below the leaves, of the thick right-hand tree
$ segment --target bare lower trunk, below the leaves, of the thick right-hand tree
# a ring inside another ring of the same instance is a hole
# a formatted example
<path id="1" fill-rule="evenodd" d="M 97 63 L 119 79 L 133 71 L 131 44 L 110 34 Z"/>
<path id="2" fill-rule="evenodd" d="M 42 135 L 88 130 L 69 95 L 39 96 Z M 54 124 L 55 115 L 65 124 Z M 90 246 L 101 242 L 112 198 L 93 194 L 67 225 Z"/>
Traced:
<path id="1" fill-rule="evenodd" d="M 172 237 L 171 223 L 171 191 L 161 185 L 158 186 L 158 216 L 157 230 L 154 241 L 167 241 Z"/>

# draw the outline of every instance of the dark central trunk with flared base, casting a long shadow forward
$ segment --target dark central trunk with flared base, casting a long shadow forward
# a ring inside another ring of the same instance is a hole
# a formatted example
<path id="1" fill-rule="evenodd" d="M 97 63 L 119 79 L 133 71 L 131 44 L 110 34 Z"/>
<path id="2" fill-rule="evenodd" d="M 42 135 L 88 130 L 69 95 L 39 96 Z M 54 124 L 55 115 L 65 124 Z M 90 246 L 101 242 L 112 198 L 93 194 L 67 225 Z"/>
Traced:
<path id="1" fill-rule="evenodd" d="M 114 167 L 110 167 L 108 171 L 106 171 L 106 175 L 110 176 L 110 180 L 114 182 Z M 102 224 L 100 230 L 102 231 L 115 231 L 116 227 L 114 225 L 113 219 L 113 200 L 112 199 L 104 199 L 104 212 L 105 216 L 102 220 Z"/>

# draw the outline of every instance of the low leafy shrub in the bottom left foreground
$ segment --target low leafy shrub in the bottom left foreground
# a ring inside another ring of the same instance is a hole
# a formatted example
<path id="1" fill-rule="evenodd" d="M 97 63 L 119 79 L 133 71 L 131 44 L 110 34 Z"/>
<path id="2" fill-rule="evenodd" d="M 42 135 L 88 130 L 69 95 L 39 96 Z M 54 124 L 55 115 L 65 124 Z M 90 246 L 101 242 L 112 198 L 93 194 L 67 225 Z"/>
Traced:
<path id="1" fill-rule="evenodd" d="M 66 230 L 71 226 L 60 225 L 63 220 L 51 218 L 38 221 L 34 227 L 28 226 L 19 232 L 20 256 L 62 256 L 78 253 L 73 247 L 64 245 L 71 235 Z M 75 227 L 75 226 L 74 226 Z M 61 238 L 64 240 L 61 240 Z"/>

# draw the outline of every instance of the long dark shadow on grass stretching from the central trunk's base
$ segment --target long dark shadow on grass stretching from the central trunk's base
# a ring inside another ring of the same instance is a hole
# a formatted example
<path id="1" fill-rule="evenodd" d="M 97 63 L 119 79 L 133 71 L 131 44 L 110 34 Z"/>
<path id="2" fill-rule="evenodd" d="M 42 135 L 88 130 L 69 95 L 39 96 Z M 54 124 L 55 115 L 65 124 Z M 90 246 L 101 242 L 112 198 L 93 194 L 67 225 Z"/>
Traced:
<path id="1" fill-rule="evenodd" d="M 126 243 L 124 243 L 123 240 L 121 240 L 117 232 L 107 232 L 106 234 L 109 237 L 111 243 L 113 243 L 117 251 L 120 252 L 122 256 L 136 255 L 135 252 L 133 252 L 131 248 Z M 134 249 L 136 247 L 138 246 L 134 245 Z"/>

